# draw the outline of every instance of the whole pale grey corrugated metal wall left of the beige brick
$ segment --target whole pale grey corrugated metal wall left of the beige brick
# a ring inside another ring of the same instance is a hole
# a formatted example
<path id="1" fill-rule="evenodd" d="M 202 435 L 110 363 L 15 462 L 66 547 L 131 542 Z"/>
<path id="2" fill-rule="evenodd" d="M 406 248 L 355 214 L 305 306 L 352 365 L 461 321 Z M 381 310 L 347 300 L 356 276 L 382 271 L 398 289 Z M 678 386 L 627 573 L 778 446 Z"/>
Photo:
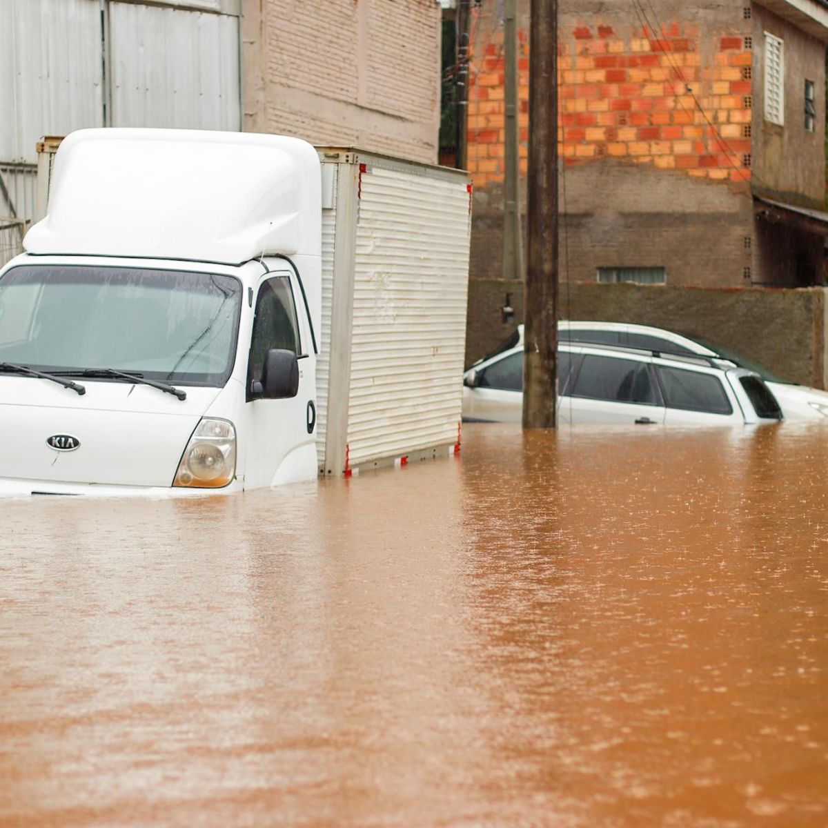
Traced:
<path id="1" fill-rule="evenodd" d="M 238 0 L 149 2 L 108 0 L 105 26 L 99 0 L 0 0 L 0 219 L 31 220 L 43 135 L 241 128 Z"/>

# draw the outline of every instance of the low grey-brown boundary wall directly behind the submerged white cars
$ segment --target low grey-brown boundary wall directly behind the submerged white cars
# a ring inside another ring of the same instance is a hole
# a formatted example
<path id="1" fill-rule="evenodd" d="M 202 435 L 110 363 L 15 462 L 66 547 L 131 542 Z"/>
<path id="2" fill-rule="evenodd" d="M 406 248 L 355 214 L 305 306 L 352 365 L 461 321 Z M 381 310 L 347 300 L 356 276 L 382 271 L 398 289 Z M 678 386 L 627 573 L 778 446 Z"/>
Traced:
<path id="1" fill-rule="evenodd" d="M 513 330 L 501 307 L 507 293 L 522 322 L 522 285 L 469 284 L 466 364 Z M 634 322 L 708 339 L 754 359 L 795 383 L 826 388 L 825 291 L 716 289 L 572 283 L 561 286 L 561 317 Z"/>

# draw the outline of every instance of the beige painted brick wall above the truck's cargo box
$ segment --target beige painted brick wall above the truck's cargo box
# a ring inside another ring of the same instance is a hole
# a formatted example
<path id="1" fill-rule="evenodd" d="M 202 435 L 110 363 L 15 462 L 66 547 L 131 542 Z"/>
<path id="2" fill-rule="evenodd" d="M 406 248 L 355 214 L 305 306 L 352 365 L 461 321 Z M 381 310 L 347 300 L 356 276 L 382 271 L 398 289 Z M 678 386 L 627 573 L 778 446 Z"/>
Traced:
<path id="1" fill-rule="evenodd" d="M 244 128 L 436 163 L 434 0 L 243 0 Z"/>

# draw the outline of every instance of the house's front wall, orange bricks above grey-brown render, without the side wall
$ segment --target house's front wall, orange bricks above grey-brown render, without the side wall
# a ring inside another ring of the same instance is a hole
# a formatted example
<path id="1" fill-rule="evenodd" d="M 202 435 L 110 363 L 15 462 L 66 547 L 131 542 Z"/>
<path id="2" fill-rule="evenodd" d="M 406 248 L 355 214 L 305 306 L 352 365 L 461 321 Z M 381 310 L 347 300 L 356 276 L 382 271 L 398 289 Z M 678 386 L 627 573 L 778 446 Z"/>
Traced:
<path id="1" fill-rule="evenodd" d="M 561 0 L 561 272 L 663 267 L 672 285 L 750 284 L 753 23 L 744 2 Z M 522 171 L 529 4 L 519 0 Z M 501 274 L 503 31 L 494 0 L 473 26 L 472 278 Z M 745 239 L 749 238 L 746 243 Z"/>

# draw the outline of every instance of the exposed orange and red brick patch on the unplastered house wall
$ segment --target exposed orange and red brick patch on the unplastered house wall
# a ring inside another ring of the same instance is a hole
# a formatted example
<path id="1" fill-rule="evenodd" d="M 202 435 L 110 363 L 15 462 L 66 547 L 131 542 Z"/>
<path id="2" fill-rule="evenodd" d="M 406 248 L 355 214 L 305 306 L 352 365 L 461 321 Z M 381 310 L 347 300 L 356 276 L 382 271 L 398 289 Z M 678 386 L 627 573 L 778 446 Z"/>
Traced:
<path id="1" fill-rule="evenodd" d="M 470 75 L 469 171 L 503 181 L 503 45 L 477 44 Z M 568 166 L 609 156 L 715 181 L 749 181 L 752 51 L 743 36 L 696 23 L 561 25 L 558 151 Z M 528 42 L 521 36 L 526 170 Z"/>

